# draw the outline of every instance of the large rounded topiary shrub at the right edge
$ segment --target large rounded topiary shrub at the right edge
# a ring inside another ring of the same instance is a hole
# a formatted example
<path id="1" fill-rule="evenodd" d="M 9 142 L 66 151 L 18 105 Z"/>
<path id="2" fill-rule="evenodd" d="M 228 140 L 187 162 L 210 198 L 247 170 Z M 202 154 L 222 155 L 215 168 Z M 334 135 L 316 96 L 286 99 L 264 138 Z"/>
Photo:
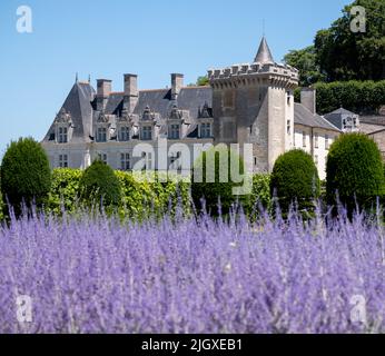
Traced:
<path id="1" fill-rule="evenodd" d="M 384 194 L 384 170 L 377 145 L 363 134 L 342 135 L 330 147 L 326 164 L 326 196 L 336 204 L 336 194 L 348 211 L 363 209 Z"/>

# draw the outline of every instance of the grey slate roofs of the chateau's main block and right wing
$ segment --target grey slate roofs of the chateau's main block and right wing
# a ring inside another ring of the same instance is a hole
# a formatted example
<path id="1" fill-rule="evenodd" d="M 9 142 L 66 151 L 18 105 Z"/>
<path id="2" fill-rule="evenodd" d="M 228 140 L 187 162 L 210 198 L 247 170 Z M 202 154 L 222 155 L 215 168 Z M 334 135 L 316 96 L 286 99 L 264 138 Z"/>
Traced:
<path id="1" fill-rule="evenodd" d="M 206 105 L 208 111 L 213 108 L 213 89 L 210 87 L 186 87 L 178 95 L 177 100 L 171 99 L 171 89 L 140 90 L 138 103 L 134 113 L 142 117 L 146 108 L 158 115 L 157 125 L 161 126 L 160 132 L 166 132 L 166 119 L 169 117 L 174 106 L 179 110 L 189 111 L 188 138 L 198 136 L 199 110 Z M 124 92 L 111 92 L 106 105 L 105 115 L 121 115 L 124 108 Z M 88 82 L 76 82 L 69 92 L 62 109 L 71 115 L 73 135 L 71 142 L 92 141 L 92 123 L 99 118 L 100 112 L 96 111 L 96 91 Z M 294 121 L 297 125 L 323 128 L 339 131 L 334 125 L 318 115 L 313 115 L 303 105 L 295 103 Z M 115 127 L 112 117 L 111 126 Z M 51 125 L 43 141 L 55 140 L 55 122 Z"/>

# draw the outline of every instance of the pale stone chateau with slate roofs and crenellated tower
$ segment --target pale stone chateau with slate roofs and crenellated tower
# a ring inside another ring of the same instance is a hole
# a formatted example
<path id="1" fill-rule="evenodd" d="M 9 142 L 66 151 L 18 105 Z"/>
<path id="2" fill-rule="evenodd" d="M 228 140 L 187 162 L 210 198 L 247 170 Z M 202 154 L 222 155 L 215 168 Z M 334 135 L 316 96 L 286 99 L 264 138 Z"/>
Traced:
<path id="1" fill-rule="evenodd" d="M 98 79 L 97 90 L 77 80 L 42 141 L 51 167 L 85 169 L 99 158 L 115 169 L 142 162 L 157 170 L 162 139 L 166 150 L 174 147 L 174 167 L 178 144 L 190 147 L 190 165 L 197 144 L 250 144 L 255 172 L 272 171 L 279 155 L 300 148 L 325 178 L 328 148 L 343 128 L 316 113 L 315 90 L 294 101 L 298 71 L 275 62 L 265 38 L 251 63 L 210 69 L 208 78 L 207 87 L 186 87 L 172 73 L 169 89 L 140 90 L 138 77 L 125 75 L 124 92 L 108 79 Z M 137 152 L 138 144 L 146 149 Z"/>

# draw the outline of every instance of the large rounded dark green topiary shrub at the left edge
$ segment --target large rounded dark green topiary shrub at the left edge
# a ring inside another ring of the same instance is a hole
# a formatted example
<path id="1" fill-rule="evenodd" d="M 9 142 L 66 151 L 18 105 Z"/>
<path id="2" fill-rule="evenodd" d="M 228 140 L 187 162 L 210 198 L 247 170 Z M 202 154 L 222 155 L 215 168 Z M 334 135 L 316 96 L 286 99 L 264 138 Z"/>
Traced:
<path id="1" fill-rule="evenodd" d="M 22 201 L 40 207 L 51 187 L 51 170 L 46 151 L 32 138 L 12 141 L 1 164 L 1 191 L 17 215 Z"/>

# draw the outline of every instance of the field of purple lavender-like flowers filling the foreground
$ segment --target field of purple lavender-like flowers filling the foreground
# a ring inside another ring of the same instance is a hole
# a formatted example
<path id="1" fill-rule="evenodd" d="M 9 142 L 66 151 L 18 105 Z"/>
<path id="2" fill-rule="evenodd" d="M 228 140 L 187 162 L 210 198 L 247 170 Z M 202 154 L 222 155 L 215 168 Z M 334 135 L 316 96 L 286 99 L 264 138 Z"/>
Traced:
<path id="1" fill-rule="evenodd" d="M 0 333 L 381 333 L 384 251 L 363 217 L 13 220 L 0 229 Z"/>

